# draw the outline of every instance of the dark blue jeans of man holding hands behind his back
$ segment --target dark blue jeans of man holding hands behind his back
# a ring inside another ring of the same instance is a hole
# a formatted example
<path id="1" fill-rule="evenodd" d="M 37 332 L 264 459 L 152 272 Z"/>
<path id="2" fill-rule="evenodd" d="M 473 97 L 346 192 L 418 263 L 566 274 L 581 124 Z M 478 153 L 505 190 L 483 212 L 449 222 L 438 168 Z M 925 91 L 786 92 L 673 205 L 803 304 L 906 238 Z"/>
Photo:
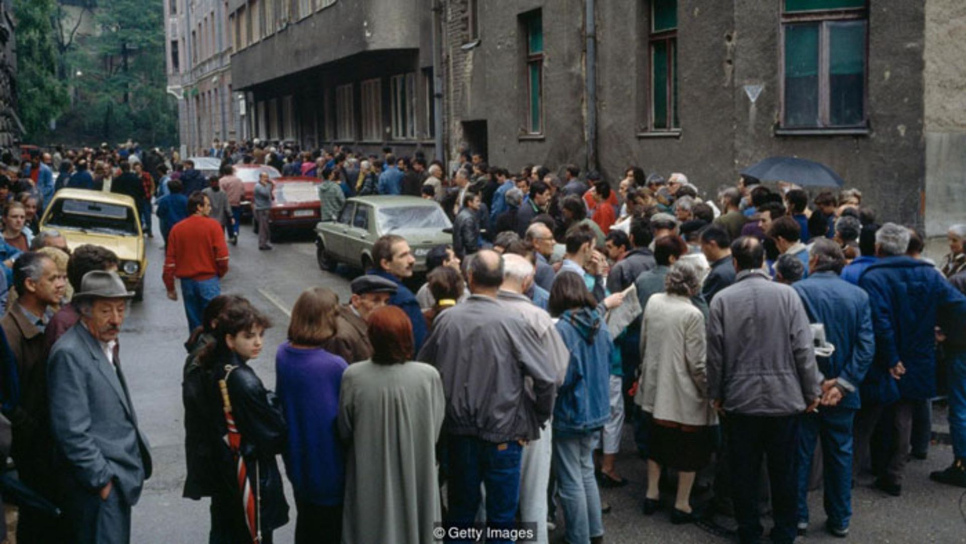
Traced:
<path id="1" fill-rule="evenodd" d="M 822 408 L 802 415 L 798 432 L 798 521 L 809 522 L 809 476 L 815 444 L 822 441 L 822 501 L 829 525 L 848 527 L 852 518 L 852 423 L 855 410 Z"/>

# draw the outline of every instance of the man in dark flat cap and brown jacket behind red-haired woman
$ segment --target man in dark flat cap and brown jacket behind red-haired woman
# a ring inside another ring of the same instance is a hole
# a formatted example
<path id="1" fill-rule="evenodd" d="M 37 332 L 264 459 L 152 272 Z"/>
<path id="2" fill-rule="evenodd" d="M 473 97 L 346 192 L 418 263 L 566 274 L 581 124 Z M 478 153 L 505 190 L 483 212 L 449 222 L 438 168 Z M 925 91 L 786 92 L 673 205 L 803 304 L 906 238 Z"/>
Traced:
<path id="1" fill-rule="evenodd" d="M 349 303 L 339 306 L 336 315 L 336 331 L 323 348 L 353 363 L 372 357 L 369 342 L 369 314 L 383 307 L 396 294 L 396 284 L 382 276 L 366 274 L 356 277 L 352 284 L 353 296 Z"/>

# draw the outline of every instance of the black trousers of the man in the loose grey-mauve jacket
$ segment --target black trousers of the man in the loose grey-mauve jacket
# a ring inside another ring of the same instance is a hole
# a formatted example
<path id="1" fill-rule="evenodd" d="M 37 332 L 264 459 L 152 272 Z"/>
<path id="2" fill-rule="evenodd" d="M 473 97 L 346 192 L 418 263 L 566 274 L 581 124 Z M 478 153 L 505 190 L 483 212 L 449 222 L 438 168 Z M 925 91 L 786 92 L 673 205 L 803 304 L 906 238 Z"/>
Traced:
<path id="1" fill-rule="evenodd" d="M 772 542 L 791 544 L 798 521 L 798 415 L 764 416 L 728 413 L 728 463 L 731 470 L 731 498 L 738 539 L 742 544 L 758 542 L 763 528 L 758 516 L 758 484 L 762 456 L 768 459 L 772 491 Z"/>

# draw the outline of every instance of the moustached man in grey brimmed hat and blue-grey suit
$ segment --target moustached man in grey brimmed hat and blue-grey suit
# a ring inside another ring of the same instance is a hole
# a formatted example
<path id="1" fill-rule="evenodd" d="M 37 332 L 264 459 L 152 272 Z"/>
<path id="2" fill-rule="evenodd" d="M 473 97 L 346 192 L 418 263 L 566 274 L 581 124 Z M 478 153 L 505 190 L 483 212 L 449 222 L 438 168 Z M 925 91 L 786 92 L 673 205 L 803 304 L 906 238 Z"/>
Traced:
<path id="1" fill-rule="evenodd" d="M 84 274 L 73 298 L 80 322 L 47 361 L 51 429 L 70 472 L 64 513 L 77 543 L 128 543 L 131 506 L 151 475 L 148 441 L 115 350 L 133 296 L 117 272 Z"/>

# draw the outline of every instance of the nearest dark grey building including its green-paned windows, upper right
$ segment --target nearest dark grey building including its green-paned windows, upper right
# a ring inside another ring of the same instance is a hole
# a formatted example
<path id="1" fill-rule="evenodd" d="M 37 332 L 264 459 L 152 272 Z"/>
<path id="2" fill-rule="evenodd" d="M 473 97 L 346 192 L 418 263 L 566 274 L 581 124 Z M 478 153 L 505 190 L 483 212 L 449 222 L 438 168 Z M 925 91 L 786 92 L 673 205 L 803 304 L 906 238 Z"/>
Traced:
<path id="1" fill-rule="evenodd" d="M 453 3 L 480 29 L 453 31 L 465 43 L 447 74 L 454 141 L 491 163 L 574 162 L 611 180 L 632 164 L 684 172 L 711 194 L 761 158 L 808 157 L 880 218 L 923 225 L 933 205 L 948 209 L 939 222 L 966 218 L 952 96 L 966 79 L 941 60 L 961 66 L 962 2 L 625 0 L 596 2 L 593 20 L 588 2 Z M 926 197 L 927 178 L 942 196 Z"/>

